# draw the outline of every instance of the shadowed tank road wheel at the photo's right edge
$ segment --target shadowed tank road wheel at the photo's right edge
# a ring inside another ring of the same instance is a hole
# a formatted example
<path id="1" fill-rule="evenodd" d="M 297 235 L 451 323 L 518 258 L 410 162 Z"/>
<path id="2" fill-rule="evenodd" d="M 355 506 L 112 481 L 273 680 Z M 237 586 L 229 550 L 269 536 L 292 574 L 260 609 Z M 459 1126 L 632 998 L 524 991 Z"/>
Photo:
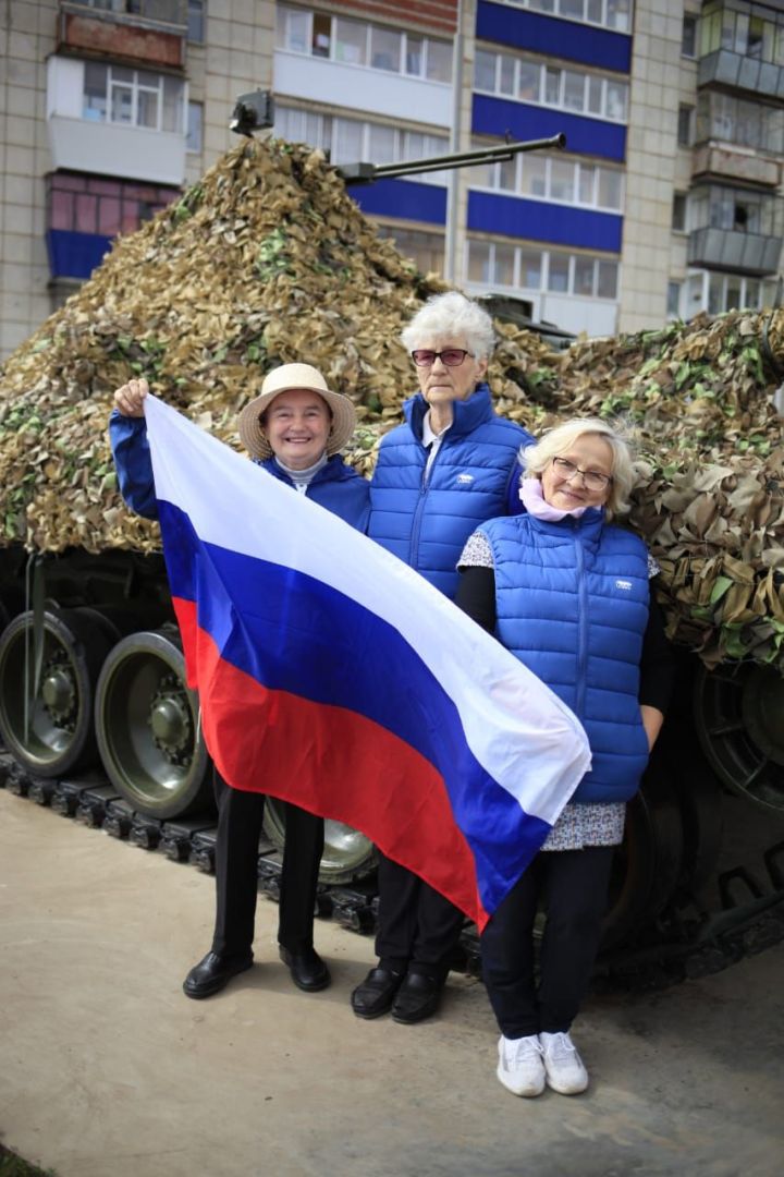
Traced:
<path id="1" fill-rule="evenodd" d="M 701 667 L 695 719 L 719 779 L 755 805 L 784 812 L 784 678 L 756 664 Z"/>

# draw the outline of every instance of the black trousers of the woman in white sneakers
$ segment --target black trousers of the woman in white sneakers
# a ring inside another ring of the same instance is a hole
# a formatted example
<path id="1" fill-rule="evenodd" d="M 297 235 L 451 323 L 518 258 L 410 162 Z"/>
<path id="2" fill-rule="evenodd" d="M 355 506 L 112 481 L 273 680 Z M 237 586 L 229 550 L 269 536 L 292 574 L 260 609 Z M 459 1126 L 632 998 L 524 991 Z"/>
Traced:
<path id="1" fill-rule="evenodd" d="M 607 909 L 614 846 L 540 852 L 482 935 L 482 976 L 507 1038 L 569 1030 L 588 990 Z M 547 923 L 534 972 L 534 920 Z"/>

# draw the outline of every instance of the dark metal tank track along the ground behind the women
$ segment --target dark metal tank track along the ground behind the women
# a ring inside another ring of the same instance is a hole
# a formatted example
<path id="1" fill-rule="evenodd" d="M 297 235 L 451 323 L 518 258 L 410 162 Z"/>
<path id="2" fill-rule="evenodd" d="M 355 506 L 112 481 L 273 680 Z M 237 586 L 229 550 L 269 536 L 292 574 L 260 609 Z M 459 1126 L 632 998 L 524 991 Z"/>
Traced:
<path id="1" fill-rule="evenodd" d="M 135 812 L 107 778 L 89 773 L 73 779 L 47 779 L 25 772 L 0 752 L 0 787 L 45 805 L 62 817 L 143 850 L 159 851 L 175 863 L 187 863 L 207 875 L 215 870 L 214 816 L 159 820 Z M 599 956 L 592 988 L 641 992 L 664 989 L 688 978 L 721 972 L 744 957 L 784 940 L 784 842 L 764 856 L 765 886 L 745 867 L 718 878 L 723 907 L 708 912 L 693 897 L 681 897 L 632 944 Z M 280 898 L 280 853 L 270 842 L 259 846 L 259 891 Z M 374 879 L 346 885 L 320 884 L 316 915 L 353 932 L 371 935 L 378 898 Z M 481 977 L 476 929 L 462 933 L 453 967 Z"/>

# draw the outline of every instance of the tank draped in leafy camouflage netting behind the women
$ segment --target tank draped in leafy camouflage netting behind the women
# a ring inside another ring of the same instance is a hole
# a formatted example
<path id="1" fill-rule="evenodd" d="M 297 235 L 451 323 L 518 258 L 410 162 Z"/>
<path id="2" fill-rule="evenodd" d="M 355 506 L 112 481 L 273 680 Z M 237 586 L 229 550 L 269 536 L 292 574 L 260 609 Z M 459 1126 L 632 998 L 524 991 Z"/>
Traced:
<path id="1" fill-rule="evenodd" d="M 369 473 L 410 392 L 402 325 L 444 288 L 362 217 L 320 152 L 246 140 L 120 238 L 0 372 L 0 736 L 18 792 L 212 869 L 210 764 L 158 527 L 118 496 L 112 392 L 154 392 L 230 445 L 276 364 L 355 400 Z M 780 936 L 784 491 L 772 394 L 784 313 L 730 312 L 615 339 L 532 330 L 489 301 L 496 408 L 536 433 L 622 417 L 641 453 L 631 521 L 661 566 L 676 700 L 616 856 L 608 969 L 692 972 Z M 780 359 L 779 359 L 780 358 Z M 260 886 L 277 886 L 267 806 Z M 328 823 L 320 904 L 373 927 L 375 855 Z M 471 937 L 465 946 L 471 955 Z"/>

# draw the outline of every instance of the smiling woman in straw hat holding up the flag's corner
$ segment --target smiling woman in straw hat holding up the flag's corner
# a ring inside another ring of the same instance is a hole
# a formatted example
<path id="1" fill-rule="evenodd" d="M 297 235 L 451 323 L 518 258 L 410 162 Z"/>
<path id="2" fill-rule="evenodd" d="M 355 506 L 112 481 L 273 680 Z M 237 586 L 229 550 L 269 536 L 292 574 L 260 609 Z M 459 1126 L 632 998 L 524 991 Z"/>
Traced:
<path id="1" fill-rule="evenodd" d="M 136 513 L 156 518 L 155 487 L 145 427 L 146 380 L 129 380 L 114 394 L 109 438 L 123 499 Z M 333 392 L 308 364 L 283 364 L 266 377 L 261 394 L 240 414 L 239 432 L 253 460 L 321 506 L 364 531 L 368 483 L 339 453 L 356 425 L 348 397 Z M 219 992 L 253 964 L 259 836 L 264 798 L 229 787 L 215 773 L 219 809 L 215 845 L 216 915 L 210 951 L 185 979 L 188 997 Z M 330 980 L 313 944 L 323 819 L 286 807 L 281 875 L 280 955 L 292 979 L 315 992 Z"/>

